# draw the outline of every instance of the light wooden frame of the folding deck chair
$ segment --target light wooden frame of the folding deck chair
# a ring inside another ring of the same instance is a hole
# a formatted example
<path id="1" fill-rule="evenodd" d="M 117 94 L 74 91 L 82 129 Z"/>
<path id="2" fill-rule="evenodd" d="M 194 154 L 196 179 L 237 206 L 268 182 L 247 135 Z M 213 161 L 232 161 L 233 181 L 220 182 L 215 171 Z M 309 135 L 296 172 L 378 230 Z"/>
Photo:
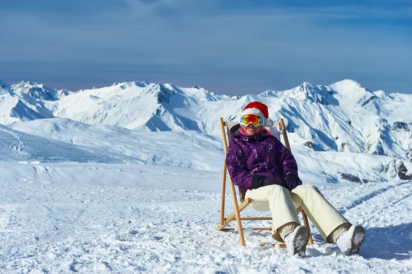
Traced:
<path id="1" fill-rule="evenodd" d="M 236 124 L 239 124 L 238 122 L 225 122 L 223 121 L 222 118 L 220 118 L 220 129 L 222 132 L 222 142 L 223 142 L 223 147 L 225 148 L 225 155 L 227 155 L 227 148 L 230 144 L 231 141 L 231 136 L 230 136 L 230 129 L 231 127 L 235 126 Z M 280 135 L 283 135 L 284 139 L 284 144 L 286 148 L 290 151 L 290 145 L 289 145 L 289 140 L 288 140 L 288 135 L 286 133 L 286 128 L 284 125 L 284 120 L 280 119 L 279 122 L 274 123 L 273 126 L 270 128 L 266 128 L 271 132 L 271 135 L 275 136 L 279 141 Z M 231 194 L 232 194 L 232 199 L 233 199 L 233 207 L 234 211 L 229 214 L 225 218 L 225 192 L 226 192 L 226 177 L 227 177 L 227 164 L 226 164 L 226 159 L 223 161 L 223 178 L 222 178 L 222 205 L 221 205 L 221 212 L 220 212 L 220 225 L 216 228 L 217 231 L 229 231 L 229 230 L 235 230 L 235 228 L 225 228 L 227 225 L 229 225 L 229 222 L 236 220 L 236 223 L 238 225 L 238 231 L 239 231 L 239 238 L 240 238 L 240 244 L 242 246 L 246 245 L 244 243 L 244 235 L 243 235 L 243 228 L 242 228 L 242 220 L 272 220 L 271 217 L 240 217 L 240 212 L 242 212 L 243 209 L 245 209 L 250 203 L 251 203 L 251 198 L 244 199 L 242 192 L 238 190 L 239 196 L 240 196 L 240 205 L 238 203 L 238 196 L 236 194 L 235 190 L 235 185 L 233 181 L 231 181 L 231 178 L 229 176 L 229 185 L 231 187 Z M 304 220 L 304 225 L 308 227 L 310 231 L 310 225 L 308 222 L 308 216 L 306 216 L 304 209 L 299 206 L 296 208 L 296 212 L 299 214 L 301 213 L 302 218 Z M 263 227 L 253 227 L 253 230 L 268 230 L 271 231 L 271 228 L 263 228 Z M 281 247 L 286 247 L 286 244 L 276 242 L 276 243 L 268 243 L 271 245 L 279 244 Z M 308 244 L 313 244 L 312 240 L 312 234 L 310 233 L 310 239 Z M 266 244 L 261 244 L 262 246 Z"/>

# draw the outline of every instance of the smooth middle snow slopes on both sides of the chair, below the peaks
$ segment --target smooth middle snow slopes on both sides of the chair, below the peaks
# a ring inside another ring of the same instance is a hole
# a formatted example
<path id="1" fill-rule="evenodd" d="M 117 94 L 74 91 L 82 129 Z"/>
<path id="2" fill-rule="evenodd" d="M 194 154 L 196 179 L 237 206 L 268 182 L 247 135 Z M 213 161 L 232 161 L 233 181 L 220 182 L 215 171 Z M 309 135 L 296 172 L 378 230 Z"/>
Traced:
<path id="1" fill-rule="evenodd" d="M 115 126 L 92 126 L 67 118 L 19 122 L 12 124 L 10 128 L 32 136 L 64 142 L 66 146 L 73 144 L 89 151 L 114 155 L 116 159 L 122 159 L 126 163 L 155 163 L 218 172 L 222 170 L 224 160 L 220 139 L 194 130 L 147 132 Z M 30 144 L 29 138 L 26 141 Z M 412 163 L 393 157 L 313 151 L 295 142 L 291 146 L 299 164 L 299 174 L 307 182 L 393 181 L 402 176 L 401 166 L 412 170 Z M 39 155 L 42 149 L 39 146 Z M 113 163 L 113 159 L 105 159 L 100 155 L 95 155 L 94 160 L 89 161 Z"/>

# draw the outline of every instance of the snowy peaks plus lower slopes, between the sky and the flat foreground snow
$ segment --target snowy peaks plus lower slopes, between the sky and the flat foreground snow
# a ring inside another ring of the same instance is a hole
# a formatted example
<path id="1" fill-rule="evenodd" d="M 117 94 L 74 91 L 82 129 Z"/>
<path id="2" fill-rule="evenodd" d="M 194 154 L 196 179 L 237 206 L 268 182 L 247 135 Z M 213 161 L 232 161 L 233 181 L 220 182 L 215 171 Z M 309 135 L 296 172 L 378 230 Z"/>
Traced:
<path id="1" fill-rule="evenodd" d="M 409 178 L 412 95 L 372 92 L 353 80 L 328 86 L 304 82 L 286 91 L 241 97 L 216 95 L 201 87 L 148 82 L 115 83 L 75 92 L 34 82 L 1 82 L 0 136 L 9 138 L 10 143 L 5 146 L 8 143 L 3 142 L 2 157 L 10 159 L 5 155 L 15 154 L 16 159 L 55 161 L 47 153 L 29 149 L 30 142 L 25 142 L 24 150 L 12 137 L 25 133 L 22 139 L 30 140 L 28 134 L 34 136 L 32 140 L 43 138 L 42 144 L 59 142 L 61 149 L 56 153 L 64 155 L 62 161 L 76 161 L 78 157 L 77 161 L 220 170 L 216 159 L 224 155 L 218 119 L 238 119 L 243 107 L 253 100 L 267 104 L 273 119 L 285 119 L 298 161 L 305 155 L 325 161 L 313 166 L 304 161 L 304 170 L 318 170 L 319 175 L 326 174 L 326 181 L 336 177 L 358 182 L 382 180 L 387 179 L 388 172 L 389 177 L 395 176 L 396 172 L 389 171 L 393 169 L 398 170 L 398 176 Z M 70 157 L 74 150 L 82 153 Z M 322 152 L 328 152 L 328 157 Z M 356 160 L 366 155 L 384 158 L 368 157 L 367 163 Z M 357 162 L 355 168 L 349 168 Z M 328 172 L 332 163 L 337 173 Z"/>

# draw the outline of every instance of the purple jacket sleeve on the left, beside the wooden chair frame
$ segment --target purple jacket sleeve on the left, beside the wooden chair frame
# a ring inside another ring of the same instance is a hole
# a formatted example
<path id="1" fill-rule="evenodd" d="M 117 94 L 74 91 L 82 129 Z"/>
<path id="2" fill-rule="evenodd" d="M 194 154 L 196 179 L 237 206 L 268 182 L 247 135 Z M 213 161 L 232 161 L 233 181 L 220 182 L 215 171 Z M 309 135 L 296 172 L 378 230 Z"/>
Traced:
<path id="1" fill-rule="evenodd" d="M 233 183 L 239 187 L 250 190 L 252 188 L 253 174 L 247 170 L 242 148 L 234 141 L 232 141 L 229 148 L 227 148 L 226 163 Z"/>

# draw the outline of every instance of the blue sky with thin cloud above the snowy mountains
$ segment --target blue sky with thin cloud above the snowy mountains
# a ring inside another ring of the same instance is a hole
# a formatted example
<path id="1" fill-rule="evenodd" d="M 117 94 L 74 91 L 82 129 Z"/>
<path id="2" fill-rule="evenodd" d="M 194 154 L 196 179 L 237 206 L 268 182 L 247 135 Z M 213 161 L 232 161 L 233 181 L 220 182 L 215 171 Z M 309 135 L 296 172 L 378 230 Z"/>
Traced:
<path id="1" fill-rule="evenodd" d="M 228 95 L 352 79 L 412 93 L 412 0 L 0 1 L 0 80 Z"/>

